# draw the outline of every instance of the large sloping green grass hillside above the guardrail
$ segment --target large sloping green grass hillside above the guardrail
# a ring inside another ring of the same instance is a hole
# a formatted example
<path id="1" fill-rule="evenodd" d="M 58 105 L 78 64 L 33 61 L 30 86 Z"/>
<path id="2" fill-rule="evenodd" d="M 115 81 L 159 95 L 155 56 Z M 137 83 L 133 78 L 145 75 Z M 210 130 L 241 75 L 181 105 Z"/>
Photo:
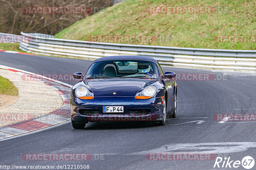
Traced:
<path id="1" fill-rule="evenodd" d="M 255 50 L 256 43 L 215 42 L 216 35 L 256 35 L 255 0 L 126 0 L 76 22 L 55 38 L 90 40 L 91 35 L 172 36 L 167 42 L 128 44 Z M 226 13 L 148 13 L 150 6 L 226 7 Z"/>

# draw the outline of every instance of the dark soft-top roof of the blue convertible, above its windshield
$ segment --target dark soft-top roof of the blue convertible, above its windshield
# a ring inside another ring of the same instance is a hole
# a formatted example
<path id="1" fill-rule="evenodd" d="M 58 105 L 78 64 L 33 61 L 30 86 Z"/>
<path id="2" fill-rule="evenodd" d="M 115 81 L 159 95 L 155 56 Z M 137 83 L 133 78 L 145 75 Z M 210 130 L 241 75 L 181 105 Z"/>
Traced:
<path id="1" fill-rule="evenodd" d="M 116 56 L 108 56 L 108 57 L 101 57 L 94 61 L 102 61 L 102 60 L 122 60 L 122 59 L 131 59 L 131 60 L 148 60 L 157 62 L 156 59 L 152 57 L 140 56 L 140 55 L 116 55 Z"/>

